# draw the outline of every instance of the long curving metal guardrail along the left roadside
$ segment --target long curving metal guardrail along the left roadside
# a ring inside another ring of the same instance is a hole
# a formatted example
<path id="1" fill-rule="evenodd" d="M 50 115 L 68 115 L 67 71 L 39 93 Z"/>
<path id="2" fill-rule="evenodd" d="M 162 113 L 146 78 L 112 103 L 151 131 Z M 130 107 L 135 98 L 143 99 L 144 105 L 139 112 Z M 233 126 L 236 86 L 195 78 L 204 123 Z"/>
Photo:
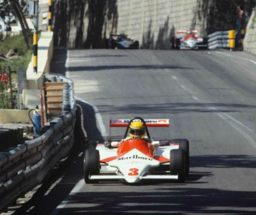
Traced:
<path id="1" fill-rule="evenodd" d="M 62 75 L 47 75 L 59 76 L 69 83 L 71 110 L 50 123 L 53 126 L 38 138 L 0 153 L 0 212 L 42 183 L 49 171 L 67 157 L 73 146 L 76 112 L 73 81 Z"/>

